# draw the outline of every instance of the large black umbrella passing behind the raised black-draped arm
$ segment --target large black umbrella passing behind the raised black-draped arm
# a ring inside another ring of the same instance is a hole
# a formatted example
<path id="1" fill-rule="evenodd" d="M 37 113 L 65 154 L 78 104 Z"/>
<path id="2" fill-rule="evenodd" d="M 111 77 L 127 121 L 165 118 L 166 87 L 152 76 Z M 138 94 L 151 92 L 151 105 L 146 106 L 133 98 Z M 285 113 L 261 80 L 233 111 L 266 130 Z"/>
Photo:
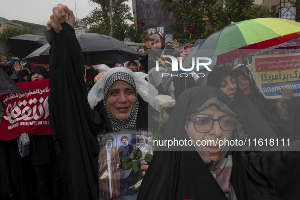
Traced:
<path id="1" fill-rule="evenodd" d="M 76 34 L 76 38 L 83 51 L 84 62 L 88 64 L 114 64 L 128 60 L 137 60 L 140 54 L 119 40 L 100 34 Z M 49 64 L 50 45 L 32 52 L 26 60 Z"/>

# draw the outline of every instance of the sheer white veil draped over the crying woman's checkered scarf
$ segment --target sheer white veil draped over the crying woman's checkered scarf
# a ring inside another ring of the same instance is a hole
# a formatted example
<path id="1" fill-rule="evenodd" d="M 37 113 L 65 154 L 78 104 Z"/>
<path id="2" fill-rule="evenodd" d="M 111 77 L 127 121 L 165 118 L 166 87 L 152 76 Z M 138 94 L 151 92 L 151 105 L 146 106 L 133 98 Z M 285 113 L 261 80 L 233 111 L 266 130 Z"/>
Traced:
<path id="1" fill-rule="evenodd" d="M 129 74 L 135 80 L 138 94 L 144 99 L 145 102 L 148 102 L 148 104 L 150 104 L 157 111 L 159 110 L 154 101 L 154 97 L 158 95 L 157 90 L 145 79 L 127 68 L 112 68 L 101 77 L 101 79 L 92 87 L 87 96 L 88 103 L 91 108 L 94 108 L 98 102 L 101 102 L 101 100 L 104 98 L 106 82 L 108 78 L 116 72 L 124 72 Z"/>

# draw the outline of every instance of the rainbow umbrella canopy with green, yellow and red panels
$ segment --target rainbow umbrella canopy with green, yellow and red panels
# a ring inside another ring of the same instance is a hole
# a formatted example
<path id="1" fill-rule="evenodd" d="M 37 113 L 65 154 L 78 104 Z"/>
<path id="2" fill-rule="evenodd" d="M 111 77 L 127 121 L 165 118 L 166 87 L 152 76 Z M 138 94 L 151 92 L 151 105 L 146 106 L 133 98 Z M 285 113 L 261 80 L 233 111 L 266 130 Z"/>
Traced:
<path id="1" fill-rule="evenodd" d="M 217 64 L 300 37 L 300 23 L 280 18 L 257 18 L 218 30 L 192 56 L 218 56 Z M 238 50 L 237 50 L 238 49 Z M 209 51 L 208 51 L 209 50 Z M 190 63 L 189 59 L 186 59 Z"/>

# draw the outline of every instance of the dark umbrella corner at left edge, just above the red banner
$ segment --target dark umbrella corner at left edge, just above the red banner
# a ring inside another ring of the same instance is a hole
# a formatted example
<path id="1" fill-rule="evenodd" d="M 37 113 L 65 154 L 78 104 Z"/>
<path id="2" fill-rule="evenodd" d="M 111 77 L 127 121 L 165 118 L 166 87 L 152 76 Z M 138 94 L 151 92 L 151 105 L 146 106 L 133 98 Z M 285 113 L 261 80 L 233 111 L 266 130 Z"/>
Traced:
<path id="1" fill-rule="evenodd" d="M 23 90 L 3 70 L 0 70 L 0 82 L 0 95 L 24 93 Z"/>

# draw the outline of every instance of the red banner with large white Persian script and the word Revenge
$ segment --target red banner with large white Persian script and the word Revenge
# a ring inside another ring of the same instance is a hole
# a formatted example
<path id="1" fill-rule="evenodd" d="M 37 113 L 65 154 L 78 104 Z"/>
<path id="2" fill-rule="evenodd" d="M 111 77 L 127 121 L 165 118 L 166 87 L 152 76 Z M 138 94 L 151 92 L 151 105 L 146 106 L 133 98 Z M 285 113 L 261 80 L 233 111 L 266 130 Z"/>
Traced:
<path id="1" fill-rule="evenodd" d="M 4 113 L 0 141 L 12 140 L 23 132 L 52 135 L 49 125 L 49 79 L 17 83 L 24 93 L 0 95 Z"/>

